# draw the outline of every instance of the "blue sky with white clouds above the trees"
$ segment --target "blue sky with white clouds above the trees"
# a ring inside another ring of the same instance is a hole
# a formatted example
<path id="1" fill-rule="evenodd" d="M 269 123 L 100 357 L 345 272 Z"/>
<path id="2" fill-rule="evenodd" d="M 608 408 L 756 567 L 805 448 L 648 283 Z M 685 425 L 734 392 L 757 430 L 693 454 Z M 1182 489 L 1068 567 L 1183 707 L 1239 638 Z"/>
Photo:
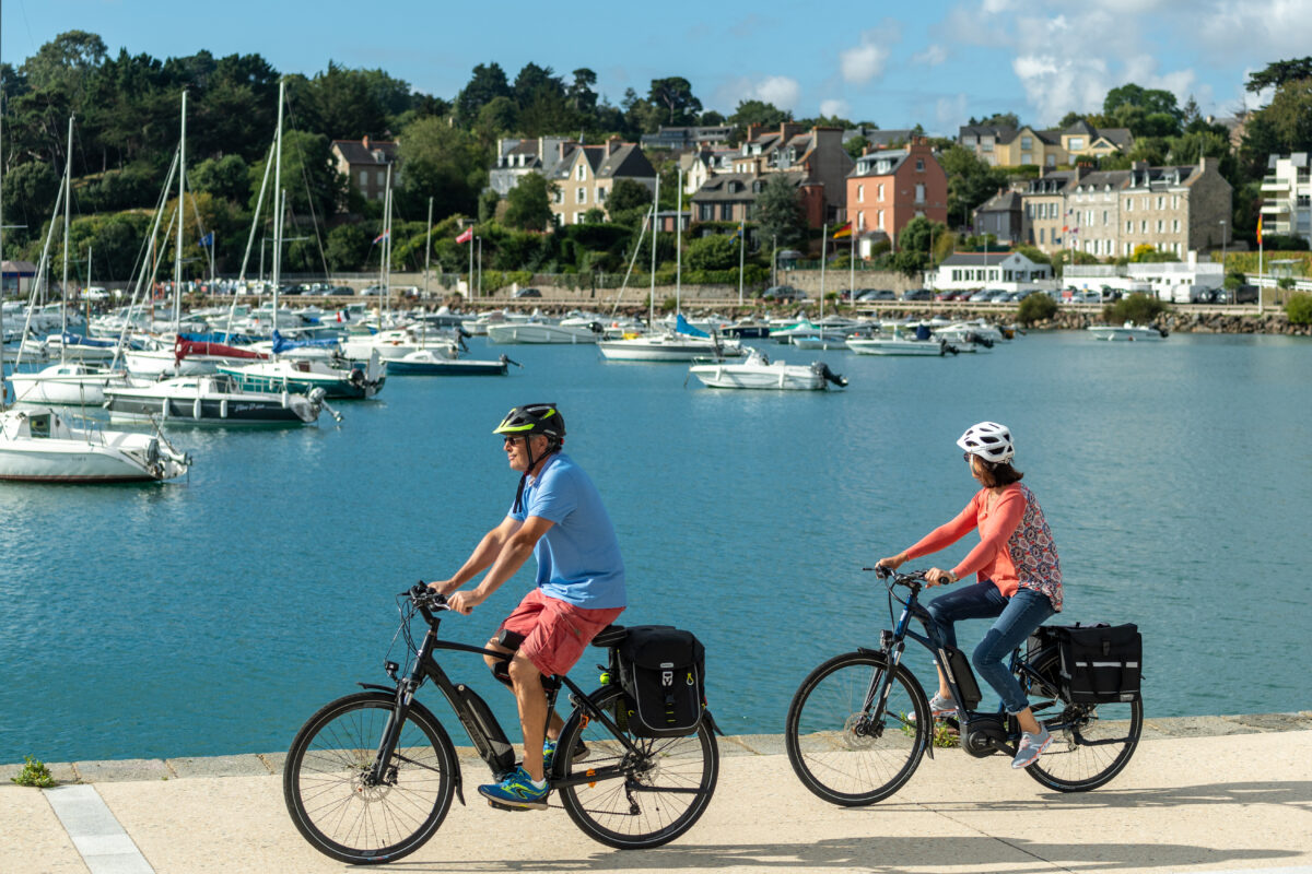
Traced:
<path id="1" fill-rule="evenodd" d="M 844 12 L 846 5 L 851 12 Z M 21 63 L 66 30 L 156 58 L 258 52 L 283 72 L 382 67 L 451 98 L 478 63 L 589 67 L 601 94 L 684 76 L 707 109 L 768 100 L 799 117 L 955 134 L 970 115 L 1051 124 L 1134 81 L 1228 115 L 1249 72 L 1312 52 L 1312 0 L 798 3 L 345 3 L 7 0 L 0 52 Z"/>

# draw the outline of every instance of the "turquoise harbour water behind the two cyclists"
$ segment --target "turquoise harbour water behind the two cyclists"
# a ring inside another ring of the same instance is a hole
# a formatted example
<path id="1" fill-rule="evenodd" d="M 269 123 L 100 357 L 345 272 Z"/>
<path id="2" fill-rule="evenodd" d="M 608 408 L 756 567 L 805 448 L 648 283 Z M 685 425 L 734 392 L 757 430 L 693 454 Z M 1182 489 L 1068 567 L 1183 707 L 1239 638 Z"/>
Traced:
<path id="1" fill-rule="evenodd" d="M 859 569 L 966 504 L 954 440 L 987 418 L 1013 428 L 1052 525 L 1061 621 L 1144 632 L 1149 715 L 1308 706 L 1305 339 L 1051 333 L 958 359 L 770 346 L 823 358 L 850 377 L 841 393 L 685 387 L 684 367 L 586 346 L 508 351 L 525 370 L 394 377 L 378 401 L 341 404 L 340 427 L 177 431 L 189 484 L 0 484 L 0 761 L 282 750 L 357 680 L 386 683 L 394 595 L 453 573 L 514 497 L 489 431 L 525 401 L 562 406 L 606 498 L 622 621 L 706 642 L 729 734 L 779 731 L 815 664 L 878 642 L 886 598 Z M 530 580 L 531 562 L 443 632 L 487 639 Z M 963 646 L 984 625 L 966 624 Z M 514 725 L 482 663 L 455 659 Z"/>

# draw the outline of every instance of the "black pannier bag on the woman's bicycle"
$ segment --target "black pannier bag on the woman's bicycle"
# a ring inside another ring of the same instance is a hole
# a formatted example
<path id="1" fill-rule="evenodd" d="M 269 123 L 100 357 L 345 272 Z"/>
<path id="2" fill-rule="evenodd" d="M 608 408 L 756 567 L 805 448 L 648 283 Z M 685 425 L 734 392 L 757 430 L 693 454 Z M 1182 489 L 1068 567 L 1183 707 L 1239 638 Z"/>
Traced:
<path id="1" fill-rule="evenodd" d="M 1132 624 L 1054 626 L 1061 654 L 1061 692 L 1073 704 L 1134 701 L 1139 696 L 1143 637 Z"/>

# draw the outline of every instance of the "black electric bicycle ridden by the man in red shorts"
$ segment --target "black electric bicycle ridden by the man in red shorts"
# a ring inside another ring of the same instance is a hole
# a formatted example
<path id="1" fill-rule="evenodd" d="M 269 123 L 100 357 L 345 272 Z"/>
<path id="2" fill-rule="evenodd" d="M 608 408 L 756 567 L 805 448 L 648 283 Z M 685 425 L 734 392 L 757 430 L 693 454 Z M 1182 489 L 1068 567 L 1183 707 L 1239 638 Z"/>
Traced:
<path id="1" fill-rule="evenodd" d="M 415 694 L 426 680 L 442 692 L 495 780 L 516 768 L 514 748 L 487 702 L 453 683 L 434 658 L 455 650 L 506 654 L 437 637 L 446 598 L 417 584 L 398 596 L 405 668 L 384 662 L 395 685 L 359 683 L 363 692 L 328 704 L 297 732 L 283 772 L 283 798 L 310 844 L 342 862 L 391 862 L 413 853 L 442 824 L 455 795 L 464 803 L 450 735 Z M 411 625 L 428 630 L 416 645 Z M 611 625 L 593 645 L 611 649 L 625 629 Z M 395 641 L 395 638 L 394 638 Z M 714 719 L 705 714 L 684 738 L 640 738 L 628 730 L 627 696 L 614 671 L 584 693 L 567 676 L 546 677 L 547 712 L 562 687 L 573 712 L 564 721 L 547 781 L 569 818 L 589 837 L 618 849 L 674 840 L 706 811 L 719 776 Z"/>

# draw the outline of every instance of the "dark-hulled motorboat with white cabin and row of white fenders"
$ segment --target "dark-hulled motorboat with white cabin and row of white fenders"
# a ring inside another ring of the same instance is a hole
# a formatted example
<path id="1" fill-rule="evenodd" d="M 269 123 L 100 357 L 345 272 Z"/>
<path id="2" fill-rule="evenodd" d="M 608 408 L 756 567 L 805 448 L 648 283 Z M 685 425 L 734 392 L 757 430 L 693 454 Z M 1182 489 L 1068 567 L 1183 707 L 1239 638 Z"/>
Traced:
<path id="1" fill-rule="evenodd" d="M 308 425 L 320 410 L 341 421 L 324 401 L 310 394 L 247 392 L 227 373 L 174 376 L 144 387 L 105 389 L 105 409 L 114 421 L 159 421 L 172 425 L 278 426 Z"/>

